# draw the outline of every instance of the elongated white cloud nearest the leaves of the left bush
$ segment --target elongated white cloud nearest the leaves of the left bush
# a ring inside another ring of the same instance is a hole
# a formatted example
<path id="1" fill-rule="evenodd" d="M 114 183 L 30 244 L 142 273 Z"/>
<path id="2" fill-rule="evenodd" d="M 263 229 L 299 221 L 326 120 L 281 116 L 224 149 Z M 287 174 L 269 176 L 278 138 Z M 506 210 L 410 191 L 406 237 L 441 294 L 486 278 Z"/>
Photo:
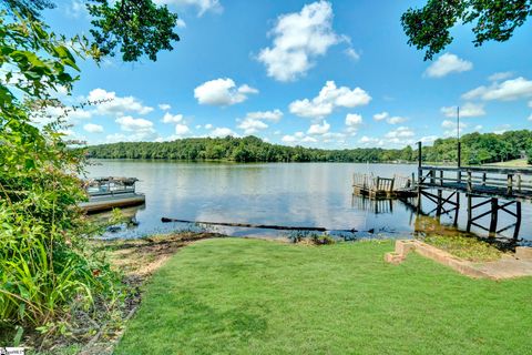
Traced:
<path id="1" fill-rule="evenodd" d="M 145 106 L 141 101 L 133 97 L 117 97 L 114 91 L 106 91 L 104 89 L 94 89 L 89 93 L 89 101 L 98 102 L 108 100 L 106 102 L 96 105 L 99 114 L 115 114 L 122 115 L 125 112 L 135 112 L 139 114 L 146 114 L 153 111 L 153 108 Z"/>

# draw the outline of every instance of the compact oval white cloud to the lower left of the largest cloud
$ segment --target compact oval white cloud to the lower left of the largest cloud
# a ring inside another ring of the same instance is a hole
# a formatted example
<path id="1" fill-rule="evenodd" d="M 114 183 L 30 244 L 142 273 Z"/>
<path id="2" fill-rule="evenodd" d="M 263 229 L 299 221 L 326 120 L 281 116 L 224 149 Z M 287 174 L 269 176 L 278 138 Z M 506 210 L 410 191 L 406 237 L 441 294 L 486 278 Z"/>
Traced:
<path id="1" fill-rule="evenodd" d="M 229 78 L 211 80 L 194 89 L 194 98 L 200 104 L 219 106 L 244 102 L 250 93 L 258 93 L 258 90 L 247 84 L 237 88 Z"/>

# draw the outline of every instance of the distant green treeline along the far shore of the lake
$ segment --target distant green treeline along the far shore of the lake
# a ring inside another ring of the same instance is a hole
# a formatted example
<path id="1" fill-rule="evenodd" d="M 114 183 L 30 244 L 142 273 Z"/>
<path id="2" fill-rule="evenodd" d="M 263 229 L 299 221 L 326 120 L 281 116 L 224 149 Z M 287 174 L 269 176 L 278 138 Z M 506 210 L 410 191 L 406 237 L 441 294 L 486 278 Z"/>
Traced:
<path id="1" fill-rule="evenodd" d="M 532 131 L 502 134 L 471 133 L 461 139 L 462 163 L 484 164 L 532 156 Z M 100 159 L 224 160 L 236 162 L 413 162 L 418 153 L 403 149 L 357 148 L 324 150 L 270 144 L 256 136 L 192 138 L 172 142 L 125 142 L 93 145 L 89 156 Z M 423 161 L 456 162 L 457 139 L 438 139 L 423 146 Z"/>

